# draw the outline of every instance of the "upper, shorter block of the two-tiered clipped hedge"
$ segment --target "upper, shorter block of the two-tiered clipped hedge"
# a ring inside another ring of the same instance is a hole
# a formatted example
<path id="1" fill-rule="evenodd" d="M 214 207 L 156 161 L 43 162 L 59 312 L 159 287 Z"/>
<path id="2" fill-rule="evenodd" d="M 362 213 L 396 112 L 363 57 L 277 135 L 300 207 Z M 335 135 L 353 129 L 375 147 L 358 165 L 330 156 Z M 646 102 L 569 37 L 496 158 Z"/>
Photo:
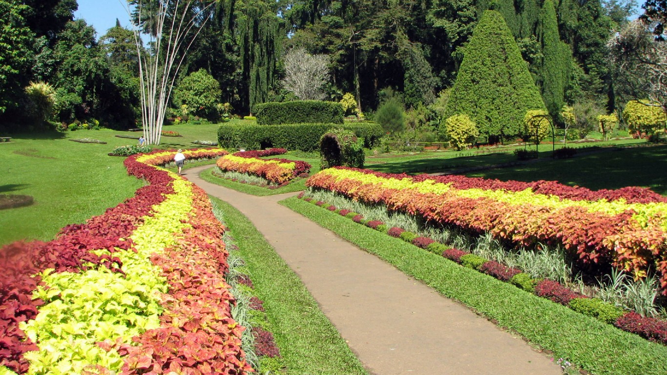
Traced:
<path id="1" fill-rule="evenodd" d="M 283 123 L 343 123 L 343 105 L 335 101 L 297 100 L 255 105 L 259 125 Z"/>

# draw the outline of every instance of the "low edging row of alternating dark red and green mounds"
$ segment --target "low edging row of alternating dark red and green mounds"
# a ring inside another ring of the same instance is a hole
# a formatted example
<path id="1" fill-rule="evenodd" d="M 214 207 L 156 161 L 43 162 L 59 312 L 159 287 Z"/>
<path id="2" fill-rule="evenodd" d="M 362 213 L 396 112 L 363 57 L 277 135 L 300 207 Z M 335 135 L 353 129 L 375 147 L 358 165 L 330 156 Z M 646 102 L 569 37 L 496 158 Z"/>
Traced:
<path id="1" fill-rule="evenodd" d="M 462 264 L 462 266 L 468 266 L 497 278 L 498 280 L 510 282 L 518 288 L 534 293 L 537 296 L 548 298 L 558 304 L 568 306 L 569 308 L 572 308 L 572 310 L 580 312 L 581 314 L 592 316 L 606 323 L 614 324 L 614 326 L 626 332 L 638 334 L 647 340 L 667 345 L 667 321 L 640 316 L 636 312 L 624 312 L 620 308 L 616 308 L 598 298 L 588 298 L 588 296 L 574 292 L 559 282 L 548 279 L 533 279 L 518 268 L 508 267 L 494 260 L 486 260 L 463 250 L 449 248 L 448 246 L 439 244 L 430 238 L 417 236 L 402 228 L 388 228 L 384 223 L 378 220 L 365 220 L 363 216 L 356 212 L 350 212 L 350 210 L 338 210 L 338 208 L 333 205 L 305 197 L 303 192 L 299 194 L 299 198 L 329 211 L 336 212 L 346 218 L 353 219 L 355 222 L 364 224 L 369 228 L 385 232 L 395 238 L 401 238 L 406 242 L 410 242 L 415 246 L 424 248 L 435 254 L 441 254 L 444 258 Z"/>

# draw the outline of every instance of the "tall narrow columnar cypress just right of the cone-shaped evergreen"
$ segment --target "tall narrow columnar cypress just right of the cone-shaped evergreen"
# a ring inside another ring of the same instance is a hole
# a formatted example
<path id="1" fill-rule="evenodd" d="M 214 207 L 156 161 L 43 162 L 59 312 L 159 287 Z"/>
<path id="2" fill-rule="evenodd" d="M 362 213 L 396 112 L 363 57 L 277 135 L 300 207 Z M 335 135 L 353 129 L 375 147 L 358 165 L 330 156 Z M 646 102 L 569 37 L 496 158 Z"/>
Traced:
<path id="1" fill-rule="evenodd" d="M 558 118 L 558 113 L 564 104 L 565 89 L 570 79 L 572 52 L 566 43 L 560 41 L 556 8 L 552 0 L 544 1 L 539 26 L 538 41 L 544 57 L 538 85 L 540 85 L 542 98 L 549 114 Z"/>

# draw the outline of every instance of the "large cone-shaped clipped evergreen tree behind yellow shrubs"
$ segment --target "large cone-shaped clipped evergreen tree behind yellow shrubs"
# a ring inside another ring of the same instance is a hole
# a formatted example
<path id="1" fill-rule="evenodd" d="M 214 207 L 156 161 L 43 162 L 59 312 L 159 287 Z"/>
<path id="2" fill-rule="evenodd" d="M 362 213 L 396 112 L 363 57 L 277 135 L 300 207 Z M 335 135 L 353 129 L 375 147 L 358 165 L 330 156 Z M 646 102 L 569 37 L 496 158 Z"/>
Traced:
<path id="1" fill-rule="evenodd" d="M 546 109 L 518 45 L 497 11 L 485 11 L 464 51 L 445 118 L 465 114 L 483 135 L 522 133 L 530 109 Z"/>

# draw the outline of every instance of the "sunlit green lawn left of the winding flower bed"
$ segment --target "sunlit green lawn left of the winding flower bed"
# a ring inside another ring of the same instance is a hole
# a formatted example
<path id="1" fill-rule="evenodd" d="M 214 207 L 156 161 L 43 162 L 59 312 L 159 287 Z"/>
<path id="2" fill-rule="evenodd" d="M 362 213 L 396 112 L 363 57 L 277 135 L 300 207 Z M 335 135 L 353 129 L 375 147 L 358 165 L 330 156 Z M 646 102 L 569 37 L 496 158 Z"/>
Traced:
<path id="1" fill-rule="evenodd" d="M 217 125 L 180 124 L 165 129 L 183 137 L 162 137 L 160 148 L 203 147 L 195 140 L 215 141 Z M 0 143 L 3 154 L 0 194 L 33 196 L 32 206 L 2 210 L 0 245 L 17 240 L 52 240 L 63 226 L 85 222 L 134 195 L 143 181 L 129 177 L 124 157 L 107 155 L 114 147 L 134 145 L 140 132 L 77 130 L 65 133 L 13 134 Z M 69 139 L 97 139 L 78 143 Z"/>

